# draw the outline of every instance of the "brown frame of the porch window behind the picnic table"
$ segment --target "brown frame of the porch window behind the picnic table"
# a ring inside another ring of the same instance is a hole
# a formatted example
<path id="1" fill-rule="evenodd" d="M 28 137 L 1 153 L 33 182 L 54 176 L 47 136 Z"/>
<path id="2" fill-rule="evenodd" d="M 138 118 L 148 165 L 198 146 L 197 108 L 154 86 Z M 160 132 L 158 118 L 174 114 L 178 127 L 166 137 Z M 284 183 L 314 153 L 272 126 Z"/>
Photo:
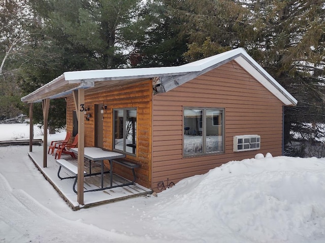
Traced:
<path id="1" fill-rule="evenodd" d="M 115 111 L 116 110 L 123 110 L 123 150 L 119 150 L 119 149 L 116 149 L 115 148 Z M 125 121 L 126 121 L 126 115 L 127 115 L 127 111 L 128 110 L 135 110 L 137 112 L 137 117 L 136 117 L 136 122 L 137 122 L 137 132 L 136 132 L 136 144 L 138 144 L 138 108 L 137 107 L 127 107 L 127 108 L 124 108 L 124 107 L 121 107 L 121 108 L 113 108 L 112 109 L 112 122 L 113 122 L 113 130 L 112 130 L 112 145 L 113 145 L 113 151 L 116 151 L 116 152 L 122 152 L 122 153 L 126 153 L 126 154 L 129 154 L 129 155 L 132 155 L 132 156 L 137 156 L 137 148 L 135 149 L 135 153 L 130 153 L 130 152 L 127 152 L 126 151 L 126 126 L 125 126 Z M 137 147 L 137 145 L 136 145 Z"/>

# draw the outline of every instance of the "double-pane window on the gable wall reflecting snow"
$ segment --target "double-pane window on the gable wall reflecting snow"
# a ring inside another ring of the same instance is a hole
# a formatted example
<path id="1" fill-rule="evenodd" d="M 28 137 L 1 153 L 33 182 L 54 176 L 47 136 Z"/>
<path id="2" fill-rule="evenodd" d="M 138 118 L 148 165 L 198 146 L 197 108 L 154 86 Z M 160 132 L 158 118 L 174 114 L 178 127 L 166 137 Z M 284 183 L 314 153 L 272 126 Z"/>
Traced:
<path id="1" fill-rule="evenodd" d="M 184 156 L 223 152 L 223 109 L 184 109 Z"/>

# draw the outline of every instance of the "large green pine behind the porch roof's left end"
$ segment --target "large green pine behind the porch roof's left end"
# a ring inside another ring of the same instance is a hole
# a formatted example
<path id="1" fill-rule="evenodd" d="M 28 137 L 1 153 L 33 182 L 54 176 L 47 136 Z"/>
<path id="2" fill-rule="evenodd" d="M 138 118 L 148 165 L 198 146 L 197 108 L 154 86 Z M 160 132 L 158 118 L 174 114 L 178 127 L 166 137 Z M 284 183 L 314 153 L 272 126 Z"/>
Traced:
<path id="1" fill-rule="evenodd" d="M 29 61 L 20 87 L 28 94 L 64 71 L 129 66 L 138 34 L 140 0 L 29 0 L 34 24 L 29 28 Z M 62 127 L 65 109 L 51 101 L 49 126 Z M 57 112 L 61 112 L 61 120 Z M 41 110 L 35 118 L 42 123 Z M 37 119 L 39 117 L 39 119 Z"/>

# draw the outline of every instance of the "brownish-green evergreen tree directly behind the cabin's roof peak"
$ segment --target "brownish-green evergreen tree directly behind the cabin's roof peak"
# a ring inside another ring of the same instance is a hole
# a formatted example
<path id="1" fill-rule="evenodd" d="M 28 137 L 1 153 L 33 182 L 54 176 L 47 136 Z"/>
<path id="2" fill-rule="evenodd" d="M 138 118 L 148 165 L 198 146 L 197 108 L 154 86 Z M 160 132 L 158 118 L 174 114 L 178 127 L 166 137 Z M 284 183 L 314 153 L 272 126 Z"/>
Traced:
<path id="1" fill-rule="evenodd" d="M 237 47 L 245 47 L 250 35 L 249 11 L 232 0 L 169 1 L 187 35 L 187 62 Z"/>

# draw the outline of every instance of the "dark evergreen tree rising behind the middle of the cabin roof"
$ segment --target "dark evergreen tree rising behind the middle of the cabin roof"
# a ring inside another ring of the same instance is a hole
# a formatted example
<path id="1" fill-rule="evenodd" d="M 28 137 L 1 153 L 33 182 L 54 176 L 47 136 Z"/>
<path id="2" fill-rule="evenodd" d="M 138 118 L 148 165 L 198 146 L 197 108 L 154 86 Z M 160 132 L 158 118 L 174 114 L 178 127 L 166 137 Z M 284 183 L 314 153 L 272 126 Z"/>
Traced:
<path id="1" fill-rule="evenodd" d="M 175 14 L 170 0 L 147 1 L 141 10 L 142 29 L 131 55 L 133 67 L 178 66 L 185 63 L 187 34 L 182 32 L 182 20 Z"/>

